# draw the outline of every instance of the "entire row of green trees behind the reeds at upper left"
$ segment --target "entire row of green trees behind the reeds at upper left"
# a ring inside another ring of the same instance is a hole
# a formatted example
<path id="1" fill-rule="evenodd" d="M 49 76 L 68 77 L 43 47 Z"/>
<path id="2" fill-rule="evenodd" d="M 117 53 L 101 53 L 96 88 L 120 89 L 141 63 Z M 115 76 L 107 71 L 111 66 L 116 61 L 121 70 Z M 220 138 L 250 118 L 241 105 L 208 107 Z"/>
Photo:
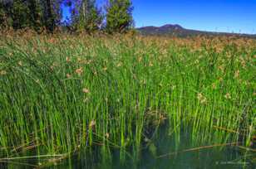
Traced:
<path id="1" fill-rule="evenodd" d="M 62 19 L 63 7 L 71 17 Z M 126 32 L 134 27 L 130 0 L 107 0 L 102 9 L 96 0 L 0 0 L 0 29 Z M 65 21 L 65 22 L 63 22 Z"/>

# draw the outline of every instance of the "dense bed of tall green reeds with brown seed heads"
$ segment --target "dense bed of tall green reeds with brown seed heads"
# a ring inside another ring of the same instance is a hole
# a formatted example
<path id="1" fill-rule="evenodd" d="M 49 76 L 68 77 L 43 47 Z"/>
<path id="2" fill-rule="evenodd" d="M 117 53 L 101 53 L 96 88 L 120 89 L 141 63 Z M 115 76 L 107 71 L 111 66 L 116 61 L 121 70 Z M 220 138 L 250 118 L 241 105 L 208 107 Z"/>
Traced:
<path id="1" fill-rule="evenodd" d="M 250 147 L 255 59 L 256 41 L 234 37 L 1 36 L 0 158 L 124 158 L 163 123 L 177 142 L 189 128 L 192 142 Z"/>

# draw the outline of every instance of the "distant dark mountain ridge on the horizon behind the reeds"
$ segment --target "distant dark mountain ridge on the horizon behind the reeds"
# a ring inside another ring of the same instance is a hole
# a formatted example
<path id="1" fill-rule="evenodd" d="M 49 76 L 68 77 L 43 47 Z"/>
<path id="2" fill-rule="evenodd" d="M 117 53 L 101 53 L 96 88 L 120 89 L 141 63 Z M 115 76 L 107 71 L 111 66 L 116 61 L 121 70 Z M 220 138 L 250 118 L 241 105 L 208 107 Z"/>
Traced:
<path id="1" fill-rule="evenodd" d="M 162 27 L 140 27 L 137 28 L 137 31 L 141 35 L 145 36 L 243 36 L 243 37 L 253 37 L 256 38 L 256 35 L 249 34 L 238 34 L 238 33 L 226 33 L 226 32 L 214 32 L 214 31 L 197 31 L 191 29 L 185 29 L 180 25 L 171 25 L 167 24 Z"/>

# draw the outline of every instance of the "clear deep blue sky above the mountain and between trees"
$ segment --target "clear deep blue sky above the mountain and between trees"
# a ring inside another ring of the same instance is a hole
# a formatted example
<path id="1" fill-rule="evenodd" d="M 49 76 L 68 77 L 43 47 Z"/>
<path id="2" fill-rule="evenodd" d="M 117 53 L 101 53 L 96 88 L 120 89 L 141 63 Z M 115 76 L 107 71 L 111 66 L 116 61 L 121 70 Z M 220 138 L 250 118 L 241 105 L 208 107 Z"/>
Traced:
<path id="1" fill-rule="evenodd" d="M 202 31 L 256 34 L 256 0 L 132 0 L 135 27 L 180 24 Z M 97 0 L 102 7 L 106 0 Z M 68 15 L 64 9 L 63 15 Z"/>

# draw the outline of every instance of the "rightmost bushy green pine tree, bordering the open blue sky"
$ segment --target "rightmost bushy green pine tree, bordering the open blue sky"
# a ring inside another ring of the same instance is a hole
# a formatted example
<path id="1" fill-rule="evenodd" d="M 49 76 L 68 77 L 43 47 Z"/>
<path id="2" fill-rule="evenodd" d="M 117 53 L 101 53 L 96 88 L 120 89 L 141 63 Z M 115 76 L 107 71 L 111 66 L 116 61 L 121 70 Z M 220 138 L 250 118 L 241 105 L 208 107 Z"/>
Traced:
<path id="1" fill-rule="evenodd" d="M 122 33 L 133 27 L 132 10 L 130 0 L 110 0 L 106 7 L 106 31 Z"/>

